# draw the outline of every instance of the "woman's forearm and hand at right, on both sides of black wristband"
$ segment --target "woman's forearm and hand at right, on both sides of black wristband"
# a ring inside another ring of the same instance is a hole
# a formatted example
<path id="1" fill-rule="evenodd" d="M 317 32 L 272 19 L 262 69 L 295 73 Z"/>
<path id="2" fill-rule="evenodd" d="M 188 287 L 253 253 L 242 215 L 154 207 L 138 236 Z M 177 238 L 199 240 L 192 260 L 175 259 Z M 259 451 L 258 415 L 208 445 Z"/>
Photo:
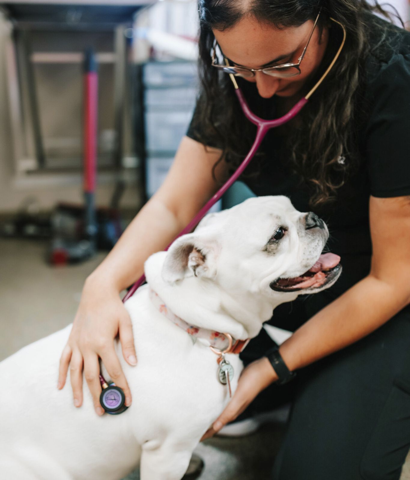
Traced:
<path id="1" fill-rule="evenodd" d="M 316 313 L 284 342 L 279 351 L 289 370 L 297 370 L 370 334 L 410 301 L 399 288 L 369 275 Z M 232 400 L 202 440 L 234 420 L 268 385 L 278 380 L 267 357 L 241 373 Z"/>

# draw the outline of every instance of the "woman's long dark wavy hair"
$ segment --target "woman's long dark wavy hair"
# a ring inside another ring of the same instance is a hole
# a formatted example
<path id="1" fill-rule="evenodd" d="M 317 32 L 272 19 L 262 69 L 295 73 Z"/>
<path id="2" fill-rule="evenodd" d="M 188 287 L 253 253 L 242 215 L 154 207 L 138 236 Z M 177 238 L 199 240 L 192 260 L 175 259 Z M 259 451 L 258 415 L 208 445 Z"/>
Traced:
<path id="1" fill-rule="evenodd" d="M 244 118 L 229 76 L 211 67 L 212 29 L 229 29 L 245 14 L 277 28 L 299 26 L 314 20 L 319 7 L 322 8 L 318 22 L 320 35 L 325 26 L 335 25 L 322 62 L 323 71 L 342 38 L 341 29 L 330 17 L 345 26 L 347 39 L 333 70 L 320 87 L 321 94 L 312 96 L 309 108 L 304 108 L 299 114 L 301 125 L 292 127 L 286 135 L 286 153 L 292 169 L 311 187 L 311 207 L 334 201 L 336 190 L 358 167 L 356 134 L 358 126 L 365 121 L 365 110 L 359 101 L 363 97 L 360 69 L 369 54 L 385 48 L 390 29 L 400 32 L 393 24 L 381 21 L 373 13 L 389 20 L 392 20 L 392 15 L 398 15 L 387 12 L 377 0 L 372 5 L 366 0 L 199 0 L 199 75 L 202 88 L 193 122 L 199 141 L 206 145 L 212 138 L 214 145 L 210 146 L 223 150 L 219 162 L 224 160 L 231 170 L 236 168 L 252 144 L 256 128 Z M 379 32 L 378 41 L 376 45 L 371 45 L 369 37 L 375 30 Z M 316 72 L 311 83 L 304 85 L 307 91 L 323 71 Z M 340 81 L 341 78 L 348 81 Z M 246 86 L 246 81 L 237 80 L 240 86 Z M 223 108 L 221 102 L 215 101 L 221 98 L 224 99 Z M 262 117 L 263 102 L 266 99 L 260 97 L 257 105 L 252 105 L 255 113 Z M 200 128 L 195 127 L 196 123 Z M 337 161 L 342 154 L 349 158 L 349 165 L 342 167 Z"/>

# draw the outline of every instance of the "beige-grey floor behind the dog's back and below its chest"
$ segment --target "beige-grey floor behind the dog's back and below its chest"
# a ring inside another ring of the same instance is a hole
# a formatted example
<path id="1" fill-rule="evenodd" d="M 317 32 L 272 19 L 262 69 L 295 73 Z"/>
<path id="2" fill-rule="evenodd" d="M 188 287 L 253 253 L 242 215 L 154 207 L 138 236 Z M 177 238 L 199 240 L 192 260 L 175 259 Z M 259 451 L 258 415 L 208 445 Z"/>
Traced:
<path id="1" fill-rule="evenodd" d="M 0 239 L 0 360 L 71 323 L 86 276 L 104 258 L 51 268 L 45 252 L 42 241 Z M 196 450 L 205 461 L 199 480 L 268 480 L 282 433 L 271 424 L 248 437 L 207 440 Z M 410 480 L 409 464 L 401 480 Z M 138 479 L 137 471 L 126 478 Z"/>

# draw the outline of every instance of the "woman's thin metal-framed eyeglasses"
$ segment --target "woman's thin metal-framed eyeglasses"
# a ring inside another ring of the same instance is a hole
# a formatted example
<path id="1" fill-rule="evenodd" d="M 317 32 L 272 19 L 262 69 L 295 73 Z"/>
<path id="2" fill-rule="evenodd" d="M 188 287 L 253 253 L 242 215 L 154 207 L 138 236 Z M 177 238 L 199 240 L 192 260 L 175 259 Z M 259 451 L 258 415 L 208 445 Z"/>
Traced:
<path id="1" fill-rule="evenodd" d="M 295 77 L 296 75 L 300 75 L 300 63 L 303 60 L 303 57 L 306 53 L 306 48 L 308 48 L 309 42 L 311 41 L 311 37 L 313 35 L 314 29 L 316 27 L 317 21 L 319 19 L 320 12 L 318 13 L 315 23 L 313 24 L 313 28 L 311 34 L 309 35 L 308 41 L 303 48 L 302 55 L 298 58 L 298 63 L 283 63 L 281 65 L 275 65 L 274 67 L 267 67 L 267 68 L 245 68 L 245 67 L 235 67 L 229 65 L 228 60 L 224 57 L 226 65 L 219 65 L 217 64 L 216 58 L 216 40 L 213 45 L 213 52 L 212 52 L 212 67 L 218 68 L 225 73 L 229 73 L 235 75 L 236 77 L 243 77 L 243 78 L 251 78 L 255 76 L 255 72 L 263 72 L 266 75 L 270 75 L 271 77 L 278 77 L 278 78 L 289 78 Z"/>

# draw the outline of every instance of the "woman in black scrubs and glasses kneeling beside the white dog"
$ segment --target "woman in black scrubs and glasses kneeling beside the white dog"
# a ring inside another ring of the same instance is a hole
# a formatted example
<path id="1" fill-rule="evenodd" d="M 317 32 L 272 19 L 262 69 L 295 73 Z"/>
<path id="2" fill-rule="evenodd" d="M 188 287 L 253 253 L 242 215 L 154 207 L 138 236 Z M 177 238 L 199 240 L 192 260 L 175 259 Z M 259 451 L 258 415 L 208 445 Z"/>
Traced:
<path id="1" fill-rule="evenodd" d="M 343 273 L 332 288 L 275 311 L 272 324 L 295 330 L 279 353 L 296 379 L 278 385 L 286 368 L 275 372 L 264 357 L 272 343 L 262 333 L 245 350 L 249 365 L 211 433 L 269 385 L 256 401 L 273 393 L 271 408 L 292 390 L 273 479 L 399 478 L 410 445 L 410 33 L 372 11 L 384 13 L 364 0 L 199 1 L 202 93 L 161 189 L 86 280 L 59 376 L 62 388 L 70 366 L 76 406 L 84 370 L 102 413 L 99 357 L 131 403 L 113 348 L 119 333 L 125 360 L 136 363 L 119 292 L 253 142 L 256 128 L 217 65 L 235 67 L 252 111 L 277 118 L 323 74 L 343 25 L 334 68 L 298 116 L 267 135 L 242 178 L 257 195 L 287 195 L 299 211 L 321 216 Z M 295 75 L 283 76 L 274 67 L 298 64 L 319 12 Z"/>

